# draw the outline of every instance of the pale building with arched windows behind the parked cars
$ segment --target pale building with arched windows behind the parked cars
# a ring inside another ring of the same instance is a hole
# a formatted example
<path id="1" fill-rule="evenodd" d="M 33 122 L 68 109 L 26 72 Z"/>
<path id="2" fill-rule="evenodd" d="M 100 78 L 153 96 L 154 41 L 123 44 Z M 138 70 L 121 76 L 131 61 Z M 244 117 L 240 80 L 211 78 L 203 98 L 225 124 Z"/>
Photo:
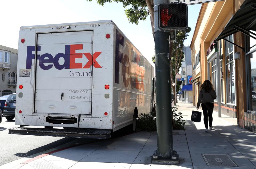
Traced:
<path id="1" fill-rule="evenodd" d="M 16 92 L 18 50 L 0 45 L 0 96 Z"/>

